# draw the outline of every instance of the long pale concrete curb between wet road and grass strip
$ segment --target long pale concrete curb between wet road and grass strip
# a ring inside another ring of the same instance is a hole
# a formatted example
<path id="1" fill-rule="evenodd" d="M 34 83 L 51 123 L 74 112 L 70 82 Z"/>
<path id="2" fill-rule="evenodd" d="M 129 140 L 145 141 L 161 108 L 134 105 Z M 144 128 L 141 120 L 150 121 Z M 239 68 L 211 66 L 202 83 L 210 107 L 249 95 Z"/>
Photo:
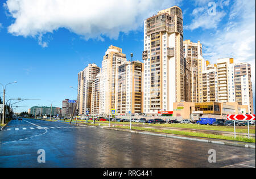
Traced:
<path id="1" fill-rule="evenodd" d="M 57 121 L 50 121 L 50 122 L 57 122 Z M 65 123 L 65 122 L 59 122 L 59 123 Z M 67 123 L 70 125 L 70 123 Z M 73 125 L 73 124 L 71 124 Z M 135 134 L 145 134 L 145 135 L 154 135 L 158 137 L 167 137 L 167 138 L 174 138 L 174 139 L 183 139 L 183 140 L 191 140 L 191 141 L 197 141 L 197 142 L 205 142 L 205 143 L 213 143 L 213 144 L 221 144 L 226 146 L 236 146 L 236 147 L 246 147 L 246 148 L 255 148 L 255 144 L 251 143 L 245 143 L 245 142 L 232 142 L 231 140 L 228 141 L 220 141 L 220 140 L 209 140 L 209 139 L 200 139 L 195 137 L 183 137 L 181 135 L 174 135 L 174 134 L 160 134 L 160 133 L 152 133 L 148 131 L 137 131 L 137 130 L 127 130 L 127 129 L 121 129 L 121 128 L 112 128 L 109 126 L 88 126 L 88 125 L 79 125 L 76 126 L 83 126 L 83 127 L 92 127 L 92 128 L 101 128 L 101 129 L 108 129 L 108 130 L 115 130 L 115 131 L 124 131 L 124 132 L 130 132 Z"/>

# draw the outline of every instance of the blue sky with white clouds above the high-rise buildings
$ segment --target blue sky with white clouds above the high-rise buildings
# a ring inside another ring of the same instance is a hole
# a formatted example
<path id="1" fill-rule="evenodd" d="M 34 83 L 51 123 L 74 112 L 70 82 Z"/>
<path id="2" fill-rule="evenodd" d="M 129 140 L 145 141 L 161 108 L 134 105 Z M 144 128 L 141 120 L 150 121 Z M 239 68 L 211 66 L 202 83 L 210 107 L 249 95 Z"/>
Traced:
<path id="1" fill-rule="evenodd" d="M 174 5 L 183 10 L 184 39 L 200 40 L 212 63 L 251 63 L 255 89 L 254 1 L 8 0 L 0 4 L 0 83 L 18 83 L 7 86 L 6 99 L 40 99 L 17 104 L 25 107 L 16 112 L 76 99 L 69 86 L 77 87 L 79 71 L 101 66 L 110 45 L 141 60 L 143 20 Z"/>

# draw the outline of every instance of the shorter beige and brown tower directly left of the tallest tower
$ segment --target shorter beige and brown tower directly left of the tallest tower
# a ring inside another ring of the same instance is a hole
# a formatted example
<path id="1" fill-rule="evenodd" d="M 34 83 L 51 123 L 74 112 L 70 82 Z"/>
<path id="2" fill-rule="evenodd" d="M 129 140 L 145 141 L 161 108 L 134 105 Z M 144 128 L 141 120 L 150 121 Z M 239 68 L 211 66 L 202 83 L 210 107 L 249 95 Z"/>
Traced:
<path id="1" fill-rule="evenodd" d="M 142 113 L 143 63 L 123 62 L 118 67 L 117 109 L 118 114 Z"/>

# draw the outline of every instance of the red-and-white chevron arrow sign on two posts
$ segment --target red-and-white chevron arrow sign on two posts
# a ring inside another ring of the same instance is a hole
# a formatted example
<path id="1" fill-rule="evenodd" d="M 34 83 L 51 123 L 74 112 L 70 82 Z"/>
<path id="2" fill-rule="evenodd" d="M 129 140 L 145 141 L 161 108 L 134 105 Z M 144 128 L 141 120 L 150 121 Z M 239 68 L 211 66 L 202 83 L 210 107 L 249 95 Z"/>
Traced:
<path id="1" fill-rule="evenodd" d="M 226 119 L 228 121 L 234 121 L 234 137 L 235 138 L 236 138 L 236 120 L 237 121 L 247 121 L 248 138 L 250 139 L 249 121 L 255 121 L 255 114 L 230 114 L 230 115 L 227 115 Z"/>

